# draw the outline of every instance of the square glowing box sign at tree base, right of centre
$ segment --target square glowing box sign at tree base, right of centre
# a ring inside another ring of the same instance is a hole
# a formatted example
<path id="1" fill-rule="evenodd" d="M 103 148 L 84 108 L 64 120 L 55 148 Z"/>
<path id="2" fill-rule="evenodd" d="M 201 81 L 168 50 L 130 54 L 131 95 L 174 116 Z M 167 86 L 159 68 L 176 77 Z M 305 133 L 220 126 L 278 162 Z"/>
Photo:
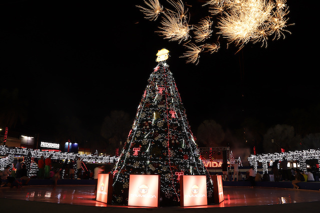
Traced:
<path id="1" fill-rule="evenodd" d="M 205 175 L 180 177 L 180 205 L 182 207 L 207 205 Z"/>

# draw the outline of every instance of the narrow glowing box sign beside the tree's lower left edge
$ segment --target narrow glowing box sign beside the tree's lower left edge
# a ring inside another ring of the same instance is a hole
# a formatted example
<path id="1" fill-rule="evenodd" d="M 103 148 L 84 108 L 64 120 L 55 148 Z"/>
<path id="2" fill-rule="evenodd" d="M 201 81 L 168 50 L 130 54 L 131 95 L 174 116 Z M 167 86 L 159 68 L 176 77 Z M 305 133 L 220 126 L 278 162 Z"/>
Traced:
<path id="1" fill-rule="evenodd" d="M 98 174 L 95 200 L 110 204 L 112 199 L 112 175 Z"/>

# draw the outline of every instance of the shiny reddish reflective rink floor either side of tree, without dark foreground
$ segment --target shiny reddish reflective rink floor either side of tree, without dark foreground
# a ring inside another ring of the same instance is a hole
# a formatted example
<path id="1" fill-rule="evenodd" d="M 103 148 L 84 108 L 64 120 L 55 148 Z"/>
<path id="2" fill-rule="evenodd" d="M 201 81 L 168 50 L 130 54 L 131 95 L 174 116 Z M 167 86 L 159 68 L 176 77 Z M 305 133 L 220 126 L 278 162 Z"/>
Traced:
<path id="1" fill-rule="evenodd" d="M 247 187 L 224 187 L 223 191 L 223 202 L 198 208 L 223 208 L 320 201 L 320 192 L 318 191 Z M 52 186 L 26 186 L 18 189 L 5 187 L 0 189 L 0 198 L 96 207 L 120 207 L 95 201 L 95 187 L 92 185 L 60 185 L 55 189 L 53 189 Z"/>

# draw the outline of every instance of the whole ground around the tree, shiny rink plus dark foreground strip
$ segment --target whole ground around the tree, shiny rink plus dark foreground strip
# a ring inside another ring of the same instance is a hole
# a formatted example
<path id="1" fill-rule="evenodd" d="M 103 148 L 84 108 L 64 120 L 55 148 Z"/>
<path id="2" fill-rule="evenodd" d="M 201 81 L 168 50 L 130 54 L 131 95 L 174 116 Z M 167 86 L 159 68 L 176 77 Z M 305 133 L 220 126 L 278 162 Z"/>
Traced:
<path id="1" fill-rule="evenodd" d="M 273 213 L 309 212 L 320 209 L 320 192 L 277 188 L 224 187 L 224 201 L 201 207 L 137 208 L 106 205 L 95 201 L 92 185 L 24 186 L 0 189 L 0 210 L 24 213 Z"/>

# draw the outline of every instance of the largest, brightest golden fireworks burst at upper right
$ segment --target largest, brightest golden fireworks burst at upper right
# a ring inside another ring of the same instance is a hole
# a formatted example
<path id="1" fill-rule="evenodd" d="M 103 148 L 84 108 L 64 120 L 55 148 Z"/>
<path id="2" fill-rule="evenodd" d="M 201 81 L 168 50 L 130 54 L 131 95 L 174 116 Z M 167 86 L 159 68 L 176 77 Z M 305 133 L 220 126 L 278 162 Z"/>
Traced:
<path id="1" fill-rule="evenodd" d="M 218 34 L 229 43 L 234 42 L 242 48 L 248 42 L 261 43 L 267 46 L 267 38 L 275 34 L 274 38 L 284 37 L 287 25 L 288 10 L 285 0 L 228 0 L 212 1 L 211 6 L 223 10 L 218 18 Z"/>

